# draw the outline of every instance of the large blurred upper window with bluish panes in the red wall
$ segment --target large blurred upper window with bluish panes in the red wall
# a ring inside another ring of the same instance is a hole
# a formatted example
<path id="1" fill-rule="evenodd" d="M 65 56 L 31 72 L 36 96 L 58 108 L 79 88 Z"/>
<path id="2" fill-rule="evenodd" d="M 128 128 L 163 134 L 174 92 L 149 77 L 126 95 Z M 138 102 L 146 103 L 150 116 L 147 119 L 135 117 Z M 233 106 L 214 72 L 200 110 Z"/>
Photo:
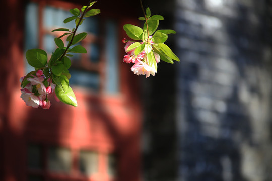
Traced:
<path id="1" fill-rule="evenodd" d="M 31 2 L 26 6 L 26 42 L 25 50 L 32 48 L 44 49 L 50 58 L 56 45 L 54 38 L 64 32 L 51 32 L 55 28 L 75 27 L 75 22 L 67 24 L 63 20 L 70 15 L 69 9 L 59 5 Z M 75 8 L 75 7 L 71 7 Z M 79 26 L 77 33 L 87 32 L 88 36 L 80 42 L 87 54 L 74 53 L 72 66 L 69 69 L 70 84 L 91 88 L 96 92 L 118 93 L 118 46 L 117 26 L 114 20 L 89 17 Z M 66 43 L 66 37 L 63 37 Z M 27 65 L 27 72 L 33 70 Z"/>

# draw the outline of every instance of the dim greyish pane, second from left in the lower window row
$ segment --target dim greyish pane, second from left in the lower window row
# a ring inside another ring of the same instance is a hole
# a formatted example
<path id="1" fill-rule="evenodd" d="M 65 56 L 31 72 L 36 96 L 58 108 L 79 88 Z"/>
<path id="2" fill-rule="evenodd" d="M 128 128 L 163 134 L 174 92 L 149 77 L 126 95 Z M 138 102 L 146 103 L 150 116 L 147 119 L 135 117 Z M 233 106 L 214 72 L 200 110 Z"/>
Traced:
<path id="1" fill-rule="evenodd" d="M 49 148 L 48 168 L 50 171 L 69 173 L 71 170 L 71 166 L 71 150 L 60 147 Z"/>

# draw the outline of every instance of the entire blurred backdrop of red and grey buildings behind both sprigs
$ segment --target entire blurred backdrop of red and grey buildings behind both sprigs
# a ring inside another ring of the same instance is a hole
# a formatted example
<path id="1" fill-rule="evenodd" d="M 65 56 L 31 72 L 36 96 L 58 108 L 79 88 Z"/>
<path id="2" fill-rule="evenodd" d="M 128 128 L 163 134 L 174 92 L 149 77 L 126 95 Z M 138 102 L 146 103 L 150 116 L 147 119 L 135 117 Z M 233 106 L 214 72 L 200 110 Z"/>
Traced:
<path id="1" fill-rule="evenodd" d="M 71 58 L 79 106 L 26 106 L 25 52 L 50 57 L 64 33 L 51 30 L 87 3 L 1 2 L 0 180 L 272 180 L 271 0 L 143 1 L 180 59 L 147 79 L 121 42 L 124 24 L 143 25 L 140 2 L 99 1 L 79 29 L 88 53 Z"/>

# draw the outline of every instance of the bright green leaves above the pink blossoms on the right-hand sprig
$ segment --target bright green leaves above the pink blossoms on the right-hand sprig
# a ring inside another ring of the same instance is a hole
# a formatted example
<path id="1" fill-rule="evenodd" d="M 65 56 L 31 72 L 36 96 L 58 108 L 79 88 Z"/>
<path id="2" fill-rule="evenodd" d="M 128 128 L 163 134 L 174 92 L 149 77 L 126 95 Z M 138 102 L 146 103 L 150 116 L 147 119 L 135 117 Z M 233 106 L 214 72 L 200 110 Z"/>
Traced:
<path id="1" fill-rule="evenodd" d="M 151 16 L 149 8 L 146 9 L 145 17 L 140 17 L 139 20 L 145 21 L 143 29 L 125 24 L 123 26 L 127 36 L 133 40 L 141 40 L 143 43 L 135 42 L 128 47 L 128 51 L 135 48 L 135 55 L 145 50 L 149 65 L 156 64 L 154 52 L 160 55 L 161 60 L 167 63 L 174 63 L 173 60 L 179 61 L 179 58 L 164 42 L 168 39 L 168 34 L 175 34 L 174 30 L 157 30 L 159 21 L 164 20 L 161 15 Z M 157 67 L 155 67 L 157 70 Z"/>

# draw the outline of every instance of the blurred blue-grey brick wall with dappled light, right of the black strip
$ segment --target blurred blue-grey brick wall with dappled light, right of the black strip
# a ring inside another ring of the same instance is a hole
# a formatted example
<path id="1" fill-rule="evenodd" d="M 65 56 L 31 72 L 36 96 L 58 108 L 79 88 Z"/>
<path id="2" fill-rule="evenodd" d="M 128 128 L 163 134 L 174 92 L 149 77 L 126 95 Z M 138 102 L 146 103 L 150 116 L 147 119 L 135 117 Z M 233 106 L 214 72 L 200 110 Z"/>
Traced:
<path id="1" fill-rule="evenodd" d="M 177 2 L 180 177 L 270 180 L 268 1 Z"/>

